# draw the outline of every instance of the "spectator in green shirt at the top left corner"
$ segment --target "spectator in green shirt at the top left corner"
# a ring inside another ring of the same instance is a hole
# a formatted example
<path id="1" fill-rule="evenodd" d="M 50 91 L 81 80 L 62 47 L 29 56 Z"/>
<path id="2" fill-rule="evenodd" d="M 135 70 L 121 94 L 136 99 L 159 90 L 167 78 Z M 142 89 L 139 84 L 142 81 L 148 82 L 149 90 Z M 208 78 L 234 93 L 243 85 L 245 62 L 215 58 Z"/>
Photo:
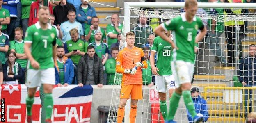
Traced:
<path id="1" fill-rule="evenodd" d="M 9 10 L 2 7 L 3 0 L 0 0 L 0 25 L 1 26 L 1 32 L 7 34 L 7 25 L 10 24 L 10 12 Z M 4 61 L 2 61 L 4 62 Z"/>

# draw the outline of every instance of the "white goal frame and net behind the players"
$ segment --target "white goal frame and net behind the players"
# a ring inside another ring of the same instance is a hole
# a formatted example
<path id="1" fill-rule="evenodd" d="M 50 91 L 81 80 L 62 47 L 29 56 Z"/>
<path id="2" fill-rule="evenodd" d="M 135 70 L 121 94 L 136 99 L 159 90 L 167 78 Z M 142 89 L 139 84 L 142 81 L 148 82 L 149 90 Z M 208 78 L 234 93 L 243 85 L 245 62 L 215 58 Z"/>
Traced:
<path id="1" fill-rule="evenodd" d="M 153 29 L 166 20 L 180 16 L 184 12 L 184 3 L 177 2 L 125 2 L 125 18 L 120 43 L 120 50 L 125 45 L 125 34 L 136 31 L 135 45 L 141 47 L 145 54 L 150 55 L 152 42 L 149 40 Z M 208 121 L 210 123 L 245 123 L 255 111 L 256 87 L 243 87 L 240 78 L 246 78 L 256 61 L 240 64 L 241 59 L 250 52 L 249 45 L 256 44 L 256 4 L 255 3 L 198 3 L 196 16 L 201 18 L 207 27 L 207 35 L 199 42 L 196 55 L 192 87 L 200 89 L 200 96 L 207 102 Z M 148 25 L 143 27 L 143 18 Z M 226 26 L 229 25 L 229 26 Z M 140 28 L 135 28 L 140 26 Z M 154 34 L 152 32 L 152 34 Z M 255 60 L 255 59 L 254 59 Z M 150 65 L 149 65 L 150 66 Z M 239 73 L 240 72 L 240 73 Z M 154 75 L 149 69 L 143 69 L 144 99 L 139 100 L 136 123 L 164 123 L 158 105 L 158 93 L 154 86 Z M 247 78 L 254 80 L 254 72 Z M 115 75 L 115 89 L 112 92 L 108 122 L 117 120 L 120 85 L 122 74 Z M 256 85 L 256 83 L 255 83 Z M 168 95 L 167 95 L 168 97 Z M 169 98 L 167 107 L 169 109 Z M 129 122 L 129 101 L 125 108 L 124 122 Z M 199 109 L 199 107 L 196 107 Z M 205 109 L 201 109 L 205 110 Z M 187 123 L 187 110 L 181 98 L 175 121 Z"/>

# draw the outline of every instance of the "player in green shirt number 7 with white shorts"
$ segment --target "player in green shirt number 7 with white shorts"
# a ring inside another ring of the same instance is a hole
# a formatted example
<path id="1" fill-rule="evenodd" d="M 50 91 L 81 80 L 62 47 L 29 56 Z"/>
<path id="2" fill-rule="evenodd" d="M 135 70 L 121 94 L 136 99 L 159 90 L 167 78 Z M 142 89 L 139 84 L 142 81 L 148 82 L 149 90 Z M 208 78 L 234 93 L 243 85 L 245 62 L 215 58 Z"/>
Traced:
<path id="1" fill-rule="evenodd" d="M 50 11 L 48 7 L 40 7 L 38 11 L 39 21 L 27 28 L 25 34 L 24 51 L 29 59 L 27 70 L 28 94 L 26 98 L 27 122 L 32 122 L 31 108 L 34 103 L 34 93 L 37 87 L 43 85 L 44 109 L 46 110 L 46 123 L 51 123 L 53 111 L 52 90 L 55 84 L 54 60 L 56 58 L 57 33 L 48 23 Z M 31 49 L 31 50 L 30 50 Z"/>

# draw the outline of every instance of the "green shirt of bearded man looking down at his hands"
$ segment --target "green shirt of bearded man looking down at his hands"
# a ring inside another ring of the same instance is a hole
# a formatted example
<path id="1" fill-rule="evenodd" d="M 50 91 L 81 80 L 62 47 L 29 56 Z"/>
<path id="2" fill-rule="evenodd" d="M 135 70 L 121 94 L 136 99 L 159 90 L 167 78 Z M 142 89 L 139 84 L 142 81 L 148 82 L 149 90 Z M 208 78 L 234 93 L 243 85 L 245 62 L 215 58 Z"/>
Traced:
<path id="1" fill-rule="evenodd" d="M 65 53 L 72 52 L 73 50 L 80 50 L 82 52 L 87 52 L 88 42 L 78 39 L 78 41 L 69 40 L 64 44 Z M 70 59 L 74 64 L 78 64 L 81 55 L 71 55 Z"/>

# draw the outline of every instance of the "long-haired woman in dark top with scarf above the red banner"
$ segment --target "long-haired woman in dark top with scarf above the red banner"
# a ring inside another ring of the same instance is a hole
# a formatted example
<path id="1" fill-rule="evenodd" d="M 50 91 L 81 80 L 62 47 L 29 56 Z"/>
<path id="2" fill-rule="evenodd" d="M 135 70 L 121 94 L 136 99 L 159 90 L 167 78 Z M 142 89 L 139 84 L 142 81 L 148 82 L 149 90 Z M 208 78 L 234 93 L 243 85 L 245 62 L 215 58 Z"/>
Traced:
<path id="1" fill-rule="evenodd" d="M 9 52 L 8 60 L 3 66 L 4 84 L 21 84 L 20 80 L 23 78 L 22 68 L 15 59 L 16 53 Z"/>

